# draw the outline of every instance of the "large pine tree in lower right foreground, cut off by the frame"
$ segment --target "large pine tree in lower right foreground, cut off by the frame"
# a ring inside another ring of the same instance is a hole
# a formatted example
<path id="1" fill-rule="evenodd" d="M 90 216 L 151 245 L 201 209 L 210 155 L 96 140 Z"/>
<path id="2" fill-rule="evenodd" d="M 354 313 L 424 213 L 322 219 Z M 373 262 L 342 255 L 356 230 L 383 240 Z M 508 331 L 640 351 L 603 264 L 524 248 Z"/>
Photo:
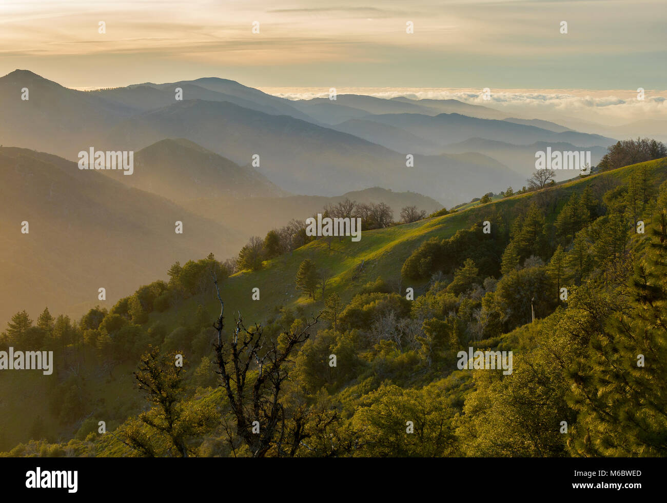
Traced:
<path id="1" fill-rule="evenodd" d="M 667 213 L 663 215 L 652 228 L 644 256 L 636 260 L 630 296 L 588 294 L 576 302 L 582 304 L 582 319 L 572 334 L 585 343 L 585 351 L 569 376 L 570 403 L 578 411 L 573 454 L 667 454 Z"/>

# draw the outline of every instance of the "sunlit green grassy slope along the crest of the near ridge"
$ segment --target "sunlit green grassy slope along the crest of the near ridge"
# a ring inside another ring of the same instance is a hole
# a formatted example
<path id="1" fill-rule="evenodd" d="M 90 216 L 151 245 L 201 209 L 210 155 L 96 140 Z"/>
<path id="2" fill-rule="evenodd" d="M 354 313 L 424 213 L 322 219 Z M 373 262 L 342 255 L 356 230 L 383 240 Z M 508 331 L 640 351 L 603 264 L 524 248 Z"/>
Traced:
<path id="1" fill-rule="evenodd" d="M 451 237 L 456 231 L 466 229 L 474 223 L 484 222 L 488 215 L 495 211 L 502 213 L 517 204 L 527 204 L 535 197 L 548 195 L 555 197 L 558 194 L 560 203 L 548 215 L 548 220 L 553 221 L 572 193 L 582 193 L 588 185 L 598 187 L 598 191 L 602 192 L 616 183 L 612 179 L 618 182 L 625 181 L 632 171 L 640 166 L 646 166 L 649 169 L 652 183 L 656 187 L 667 177 L 667 159 L 660 159 L 574 179 L 544 189 L 539 193 L 524 193 L 498 199 L 486 205 L 472 203 L 459 209 L 456 213 L 443 217 L 396 225 L 386 229 L 364 231 L 358 243 L 352 242 L 350 238 L 340 240 L 333 238 L 331 249 L 329 249 L 325 241 L 313 241 L 290 254 L 265 262 L 263 270 L 255 272 L 245 270 L 229 277 L 221 288 L 225 309 L 228 313 L 240 311 L 246 320 L 258 321 L 262 320 L 267 309 L 273 306 L 303 306 L 307 312 L 318 312 L 323 307 L 321 298 L 318 297 L 316 302 L 313 302 L 307 296 L 299 294 L 294 286 L 299 264 L 305 258 L 313 260 L 319 268 L 327 268 L 331 271 L 331 280 L 327 284 L 326 292 L 327 294 L 336 292 L 344 301 L 350 300 L 362 285 L 370 280 L 375 280 L 378 276 L 388 282 L 393 282 L 398 288 L 402 264 L 412 251 L 427 239 Z M 424 287 L 424 283 L 410 282 L 408 284 L 403 280 L 401 286 L 402 294 L 405 294 L 405 288 L 408 286 L 412 286 L 418 292 Z M 261 300 L 259 301 L 251 300 L 252 288 L 255 287 L 260 289 Z M 196 307 L 196 302 L 199 302 L 199 299 L 192 300 L 191 304 Z M 216 312 L 217 300 L 211 299 L 206 306 L 209 312 Z M 156 318 L 163 316 L 163 314 L 155 315 Z M 171 318 L 175 318 L 174 313 L 171 313 Z"/>

